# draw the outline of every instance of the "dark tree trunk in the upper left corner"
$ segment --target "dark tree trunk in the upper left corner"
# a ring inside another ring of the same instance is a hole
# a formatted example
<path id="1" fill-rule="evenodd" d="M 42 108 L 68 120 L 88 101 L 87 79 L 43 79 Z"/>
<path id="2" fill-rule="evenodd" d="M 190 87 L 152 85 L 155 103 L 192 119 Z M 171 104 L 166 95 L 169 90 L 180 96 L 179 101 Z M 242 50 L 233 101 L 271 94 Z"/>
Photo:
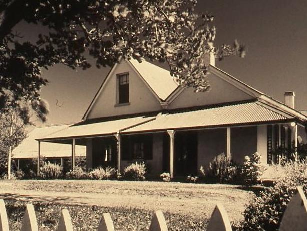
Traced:
<path id="1" fill-rule="evenodd" d="M 7 2 L 9 3 L 0 3 L 0 42 L 24 18 L 25 0 L 11 0 Z"/>

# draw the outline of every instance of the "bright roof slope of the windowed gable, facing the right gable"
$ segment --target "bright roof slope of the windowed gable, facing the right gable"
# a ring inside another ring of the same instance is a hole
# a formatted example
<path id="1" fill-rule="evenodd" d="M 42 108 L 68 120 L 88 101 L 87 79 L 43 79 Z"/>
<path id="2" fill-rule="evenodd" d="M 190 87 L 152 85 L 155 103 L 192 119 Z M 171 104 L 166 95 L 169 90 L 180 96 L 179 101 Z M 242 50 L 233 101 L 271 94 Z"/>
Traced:
<path id="1" fill-rule="evenodd" d="M 178 87 L 168 70 L 149 63 L 145 59 L 142 59 L 141 63 L 135 59 L 130 59 L 129 62 L 160 99 L 165 100 Z"/>

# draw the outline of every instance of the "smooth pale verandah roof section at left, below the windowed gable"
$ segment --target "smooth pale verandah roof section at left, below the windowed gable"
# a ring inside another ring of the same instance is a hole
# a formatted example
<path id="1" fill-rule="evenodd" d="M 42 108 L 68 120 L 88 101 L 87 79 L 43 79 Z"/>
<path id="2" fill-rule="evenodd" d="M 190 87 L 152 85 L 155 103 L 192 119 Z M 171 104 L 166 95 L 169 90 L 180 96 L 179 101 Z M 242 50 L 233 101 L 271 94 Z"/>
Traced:
<path id="1" fill-rule="evenodd" d="M 74 138 L 74 137 L 88 137 L 97 135 L 111 135 L 120 132 L 121 130 L 130 128 L 135 125 L 139 125 L 155 117 L 131 117 L 125 119 L 117 119 L 110 121 L 102 121 L 90 124 L 74 124 L 67 128 L 53 133 L 51 135 L 43 136 L 38 140 L 52 140 L 57 138 Z"/>

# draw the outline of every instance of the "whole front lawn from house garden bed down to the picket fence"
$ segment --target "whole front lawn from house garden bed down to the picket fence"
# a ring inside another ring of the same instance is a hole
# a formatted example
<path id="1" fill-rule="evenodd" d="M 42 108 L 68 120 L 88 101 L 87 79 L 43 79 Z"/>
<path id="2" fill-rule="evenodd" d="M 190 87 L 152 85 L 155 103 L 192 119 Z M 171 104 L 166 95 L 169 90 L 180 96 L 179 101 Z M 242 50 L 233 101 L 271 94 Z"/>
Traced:
<path id="1" fill-rule="evenodd" d="M 37 214 L 42 211 L 50 213 L 47 215 L 53 217 L 50 222 L 40 220 L 46 215 L 37 215 L 40 225 L 43 225 L 41 228 L 48 226 L 48 223 L 55 225 L 61 208 L 68 207 L 77 230 L 85 230 L 78 225 L 88 220 L 92 220 L 93 228 L 87 230 L 95 230 L 103 212 L 110 212 L 116 230 L 146 230 L 154 210 L 163 211 L 170 230 L 203 230 L 217 203 L 224 205 L 231 221 L 240 221 L 245 204 L 253 196 L 252 191 L 225 184 L 98 180 L 0 181 L 0 198 L 8 201 L 10 211 L 20 210 L 21 216 L 24 202 L 14 202 L 21 200 L 36 202 Z M 18 223 L 16 217 L 11 217 L 13 223 Z M 133 229 L 131 225 L 135 222 L 142 225 Z"/>

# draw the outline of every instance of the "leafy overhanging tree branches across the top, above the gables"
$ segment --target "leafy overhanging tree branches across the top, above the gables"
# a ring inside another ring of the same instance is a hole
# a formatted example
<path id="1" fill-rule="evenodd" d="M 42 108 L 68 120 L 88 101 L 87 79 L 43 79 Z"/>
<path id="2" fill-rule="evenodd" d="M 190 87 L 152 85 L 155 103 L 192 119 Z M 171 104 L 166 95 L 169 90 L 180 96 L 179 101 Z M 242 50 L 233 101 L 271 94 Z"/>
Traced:
<path id="1" fill-rule="evenodd" d="M 87 53 L 97 67 L 112 66 L 120 57 L 159 60 L 183 86 L 206 91 L 208 67 L 203 56 L 219 59 L 240 54 L 244 47 L 211 46 L 213 16 L 196 14 L 196 0 L 3 0 L 0 3 L 0 108 L 26 100 L 39 111 L 39 91 L 48 81 L 42 68 L 62 63 L 87 69 Z M 22 20 L 49 28 L 35 44 L 12 33 Z M 21 108 L 17 104 L 17 108 Z"/>

